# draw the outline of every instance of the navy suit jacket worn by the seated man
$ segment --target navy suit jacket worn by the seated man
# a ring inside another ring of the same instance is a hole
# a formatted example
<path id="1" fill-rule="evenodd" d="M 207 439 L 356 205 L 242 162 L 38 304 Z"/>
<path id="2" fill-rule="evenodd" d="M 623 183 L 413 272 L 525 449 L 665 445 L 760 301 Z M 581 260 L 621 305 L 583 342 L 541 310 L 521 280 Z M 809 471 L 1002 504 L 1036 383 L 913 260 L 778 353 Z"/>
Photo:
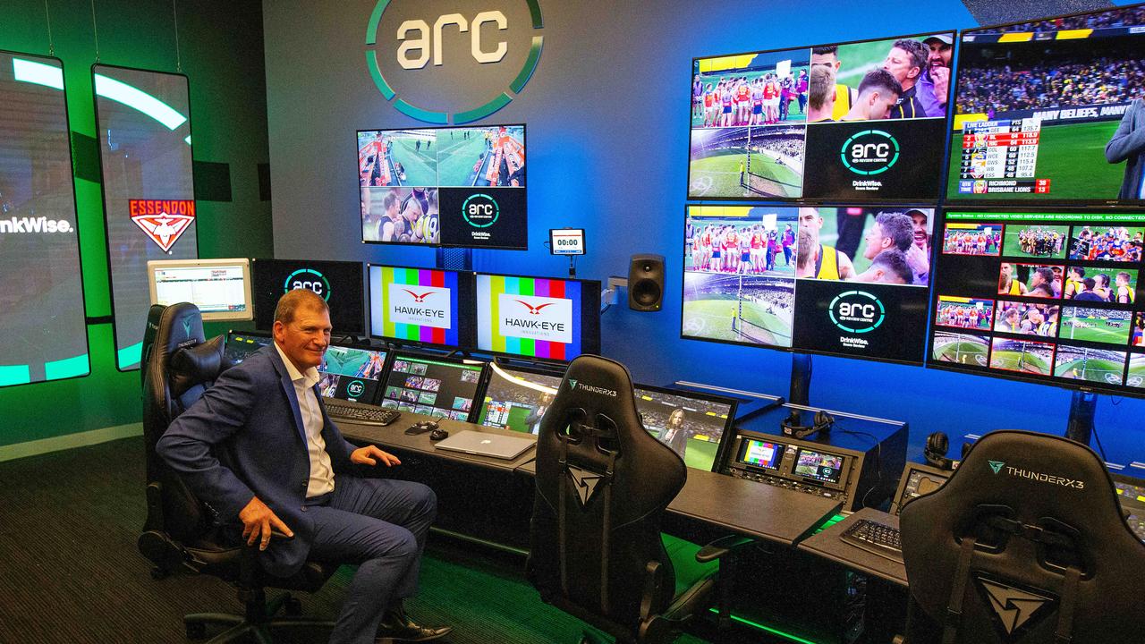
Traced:
<path id="1" fill-rule="evenodd" d="M 317 388 L 315 395 L 334 473 L 349 472 L 354 446 L 330 421 Z M 224 524 L 239 524 L 238 512 L 258 496 L 291 528 L 293 540 L 270 540 L 261 557 L 267 572 L 290 576 L 306 563 L 314 542 L 303 509 L 310 460 L 294 383 L 274 344 L 226 370 L 167 427 L 156 451 Z"/>

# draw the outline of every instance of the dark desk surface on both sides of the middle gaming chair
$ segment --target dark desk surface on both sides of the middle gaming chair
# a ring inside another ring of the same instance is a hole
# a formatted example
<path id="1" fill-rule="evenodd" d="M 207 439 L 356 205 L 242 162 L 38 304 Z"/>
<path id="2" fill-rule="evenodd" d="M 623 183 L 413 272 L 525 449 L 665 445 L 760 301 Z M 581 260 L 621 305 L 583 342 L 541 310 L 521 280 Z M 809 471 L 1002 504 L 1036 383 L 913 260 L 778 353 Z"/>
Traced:
<path id="1" fill-rule="evenodd" d="M 416 451 L 423 455 L 445 458 L 457 463 L 480 468 L 521 472 L 535 476 L 536 450 L 529 449 L 513 461 L 476 456 L 434 448 L 429 434 L 406 435 L 405 427 L 421 419 L 416 414 L 403 413 L 393 425 L 356 425 L 339 422 L 339 429 L 348 440 L 372 442 L 382 447 Z M 520 432 L 483 427 L 460 421 L 439 422 L 450 435 L 463 430 L 521 437 Z M 813 496 L 790 489 L 749 481 L 714 472 L 688 470 L 688 479 L 680 494 L 672 500 L 668 510 L 676 515 L 713 524 L 737 534 L 755 536 L 772 542 L 792 545 L 806 537 L 838 511 L 840 503 L 835 500 Z"/>

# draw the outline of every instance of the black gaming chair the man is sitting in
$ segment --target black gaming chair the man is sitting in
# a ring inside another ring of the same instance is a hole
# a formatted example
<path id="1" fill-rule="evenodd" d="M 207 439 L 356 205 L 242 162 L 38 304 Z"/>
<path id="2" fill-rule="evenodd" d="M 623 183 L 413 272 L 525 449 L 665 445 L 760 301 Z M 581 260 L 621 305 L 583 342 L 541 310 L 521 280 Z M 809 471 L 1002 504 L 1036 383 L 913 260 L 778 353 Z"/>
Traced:
<path id="1" fill-rule="evenodd" d="M 245 614 L 185 615 L 183 622 L 190 638 L 204 637 L 207 625 L 231 627 L 211 639 L 212 643 L 248 637 L 267 643 L 273 629 L 332 628 L 331 622 L 298 616 L 276 619 L 274 615 L 284 606 L 287 613 L 297 615 L 300 604 L 289 594 L 268 603 L 264 588 L 315 592 L 337 566 L 307 563 L 286 579 L 264 573 L 258 561 L 258 549 L 226 542 L 215 525 L 214 511 L 196 498 L 155 451 L 167 425 L 230 367 L 223 355 L 224 340 L 224 336 L 204 340 L 203 317 L 192 304 L 168 306 L 159 315 L 143 382 L 148 512 L 139 539 L 140 552 L 155 564 L 152 576 L 156 579 L 175 572 L 208 574 L 238 588 Z"/>

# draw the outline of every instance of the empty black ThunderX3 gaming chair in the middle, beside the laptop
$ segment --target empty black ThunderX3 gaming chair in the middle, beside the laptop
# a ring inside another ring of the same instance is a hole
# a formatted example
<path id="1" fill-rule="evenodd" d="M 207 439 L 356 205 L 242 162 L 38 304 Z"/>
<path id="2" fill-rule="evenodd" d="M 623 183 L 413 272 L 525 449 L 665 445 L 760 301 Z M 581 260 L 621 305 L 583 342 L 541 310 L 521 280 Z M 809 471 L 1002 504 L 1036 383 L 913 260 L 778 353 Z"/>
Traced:
<path id="1" fill-rule="evenodd" d="M 712 572 L 677 579 L 661 539 L 661 517 L 687 469 L 641 425 L 623 364 L 572 361 L 540 422 L 536 469 L 527 572 L 543 600 L 641 643 L 670 641 L 709 605 Z M 747 541 L 721 540 L 696 559 L 716 560 Z"/>

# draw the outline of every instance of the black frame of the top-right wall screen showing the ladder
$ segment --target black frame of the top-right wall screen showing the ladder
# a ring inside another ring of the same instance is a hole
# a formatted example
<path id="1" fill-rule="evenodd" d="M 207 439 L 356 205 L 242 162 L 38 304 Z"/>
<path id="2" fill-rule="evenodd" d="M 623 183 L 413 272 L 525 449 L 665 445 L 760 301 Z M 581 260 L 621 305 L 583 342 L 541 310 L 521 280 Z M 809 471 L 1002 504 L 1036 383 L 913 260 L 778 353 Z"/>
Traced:
<path id="1" fill-rule="evenodd" d="M 1002 28 L 1006 28 L 1006 26 L 1016 26 L 1016 25 L 1030 24 L 1030 23 L 1044 22 L 1044 21 L 1056 21 L 1056 19 L 1060 19 L 1060 18 L 1072 18 L 1072 17 L 1076 17 L 1076 16 L 1089 16 L 1089 15 L 1095 15 L 1095 14 L 1104 14 L 1104 13 L 1112 11 L 1112 10 L 1118 10 L 1118 9 L 1134 9 L 1134 8 L 1140 8 L 1140 7 L 1145 7 L 1145 2 L 1138 2 L 1136 5 L 1124 5 L 1124 6 L 1106 7 L 1104 9 L 1099 9 L 1099 10 L 1092 10 L 1092 9 L 1090 9 L 1090 10 L 1084 10 L 1084 11 L 1074 11 L 1072 14 L 1059 14 L 1059 15 L 1056 15 L 1056 16 L 1045 16 L 1045 17 L 1040 17 L 1040 18 L 1035 18 L 1035 19 L 1025 19 L 1025 21 L 1017 21 L 1017 22 L 1009 22 L 1009 23 L 998 23 L 998 24 L 992 24 L 992 25 L 986 25 L 986 26 L 979 26 L 979 28 L 976 28 L 976 29 L 965 29 L 965 30 L 960 30 L 958 31 L 958 33 L 957 33 L 958 42 L 957 42 L 957 48 L 956 48 L 956 52 L 955 52 L 956 64 L 954 65 L 954 72 L 955 72 L 954 73 L 954 81 L 950 84 L 950 89 L 951 89 L 953 93 L 950 95 L 949 102 L 947 103 L 947 121 L 949 123 L 949 127 L 948 127 L 948 131 L 947 131 L 947 151 L 946 151 L 947 166 L 946 166 L 946 173 L 942 176 L 942 190 L 941 190 L 941 193 L 942 193 L 942 207 L 943 207 L 943 210 L 976 210 L 976 209 L 984 207 L 984 206 L 1032 207 L 1032 209 L 1035 209 L 1035 210 L 1047 210 L 1047 209 L 1052 209 L 1055 206 L 1066 206 L 1066 207 L 1069 207 L 1069 206 L 1075 206 L 1075 207 L 1076 206 L 1096 206 L 1096 207 L 1103 207 L 1103 209 L 1107 207 L 1107 209 L 1126 209 L 1126 210 L 1134 210 L 1134 209 L 1145 207 L 1145 199 L 1053 199 L 1052 202 L 1037 202 L 1037 201 L 1030 201 L 1030 199 L 1012 199 L 1012 198 L 1011 199 L 1005 199 L 1005 198 L 998 198 L 998 199 L 992 199 L 992 198 L 966 199 L 964 197 L 960 197 L 958 193 L 951 193 L 950 191 L 950 165 L 954 164 L 954 138 L 955 138 L 955 135 L 961 135 L 962 132 L 963 132 L 962 129 L 957 129 L 956 131 L 954 128 L 954 123 L 955 123 L 955 119 L 957 117 L 956 107 L 957 107 L 957 101 L 958 101 L 958 89 L 962 86 L 962 78 L 964 76 L 963 66 L 961 64 L 962 63 L 961 57 L 962 57 L 962 47 L 963 47 L 963 42 L 964 42 L 965 37 L 968 37 L 968 36 L 973 37 L 973 36 L 976 36 L 978 33 L 982 33 L 982 34 L 985 34 L 985 33 L 992 33 L 989 30 L 996 30 L 996 29 L 1002 29 Z M 1026 33 L 1026 32 L 1022 32 L 1022 33 Z M 1033 33 L 1033 32 L 1029 32 L 1029 33 Z M 1049 108 L 1047 108 L 1047 109 L 1049 109 Z"/>

